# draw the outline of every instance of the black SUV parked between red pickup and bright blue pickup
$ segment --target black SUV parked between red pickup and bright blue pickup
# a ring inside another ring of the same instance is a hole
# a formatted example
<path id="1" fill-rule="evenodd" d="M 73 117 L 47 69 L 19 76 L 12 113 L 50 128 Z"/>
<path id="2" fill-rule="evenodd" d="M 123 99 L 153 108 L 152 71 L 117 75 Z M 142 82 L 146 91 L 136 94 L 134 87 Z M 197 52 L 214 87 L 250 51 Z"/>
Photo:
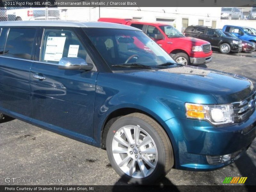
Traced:
<path id="1" fill-rule="evenodd" d="M 206 26 L 188 26 L 184 35 L 203 39 L 211 43 L 212 47 L 219 48 L 222 53 L 241 52 L 242 41 L 225 35 L 220 29 Z"/>

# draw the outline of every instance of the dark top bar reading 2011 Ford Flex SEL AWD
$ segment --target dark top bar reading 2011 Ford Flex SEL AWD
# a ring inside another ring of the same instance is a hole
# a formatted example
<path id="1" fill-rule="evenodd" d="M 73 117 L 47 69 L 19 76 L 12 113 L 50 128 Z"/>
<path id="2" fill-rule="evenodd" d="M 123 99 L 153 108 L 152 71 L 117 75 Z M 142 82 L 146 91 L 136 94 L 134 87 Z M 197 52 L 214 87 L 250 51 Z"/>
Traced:
<path id="1" fill-rule="evenodd" d="M 2 0 L 0 7 L 256 7 L 256 0 Z"/>

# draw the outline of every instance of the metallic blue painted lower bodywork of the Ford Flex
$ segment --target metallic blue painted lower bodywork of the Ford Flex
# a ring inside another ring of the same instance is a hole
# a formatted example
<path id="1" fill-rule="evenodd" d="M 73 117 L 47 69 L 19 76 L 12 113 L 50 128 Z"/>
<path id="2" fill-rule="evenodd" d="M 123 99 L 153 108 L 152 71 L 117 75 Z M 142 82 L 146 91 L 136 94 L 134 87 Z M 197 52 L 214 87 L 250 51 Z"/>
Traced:
<path id="1" fill-rule="evenodd" d="M 2 113 L 100 147 L 107 118 L 118 109 L 138 109 L 162 125 L 179 169 L 225 166 L 231 162 L 210 165 L 206 155 L 236 152 L 256 136 L 255 111 L 242 123 L 217 127 L 187 119 L 184 104 L 237 102 L 253 91 L 244 77 L 197 67 L 172 65 L 112 73 L 64 70 L 38 61 L 0 57 Z"/>

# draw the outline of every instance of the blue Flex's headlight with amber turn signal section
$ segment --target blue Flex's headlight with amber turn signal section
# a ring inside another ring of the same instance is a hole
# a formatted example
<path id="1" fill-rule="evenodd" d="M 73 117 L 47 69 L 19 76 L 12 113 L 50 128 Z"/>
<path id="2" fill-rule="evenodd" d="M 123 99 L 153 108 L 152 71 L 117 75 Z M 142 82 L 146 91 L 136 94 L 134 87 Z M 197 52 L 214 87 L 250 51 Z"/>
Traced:
<path id="1" fill-rule="evenodd" d="M 226 105 L 202 105 L 186 103 L 186 117 L 190 119 L 206 120 L 214 125 L 234 123 L 233 109 Z"/>

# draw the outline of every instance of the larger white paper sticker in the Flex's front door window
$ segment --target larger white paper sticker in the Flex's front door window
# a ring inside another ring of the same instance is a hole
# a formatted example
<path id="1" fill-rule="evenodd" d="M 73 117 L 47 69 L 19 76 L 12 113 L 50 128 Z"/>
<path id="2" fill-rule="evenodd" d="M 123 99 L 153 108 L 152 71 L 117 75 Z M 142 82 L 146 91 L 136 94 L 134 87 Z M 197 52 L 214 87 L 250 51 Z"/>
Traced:
<path id="1" fill-rule="evenodd" d="M 44 60 L 60 61 L 63 55 L 66 37 L 48 37 L 46 42 L 46 49 Z"/>

